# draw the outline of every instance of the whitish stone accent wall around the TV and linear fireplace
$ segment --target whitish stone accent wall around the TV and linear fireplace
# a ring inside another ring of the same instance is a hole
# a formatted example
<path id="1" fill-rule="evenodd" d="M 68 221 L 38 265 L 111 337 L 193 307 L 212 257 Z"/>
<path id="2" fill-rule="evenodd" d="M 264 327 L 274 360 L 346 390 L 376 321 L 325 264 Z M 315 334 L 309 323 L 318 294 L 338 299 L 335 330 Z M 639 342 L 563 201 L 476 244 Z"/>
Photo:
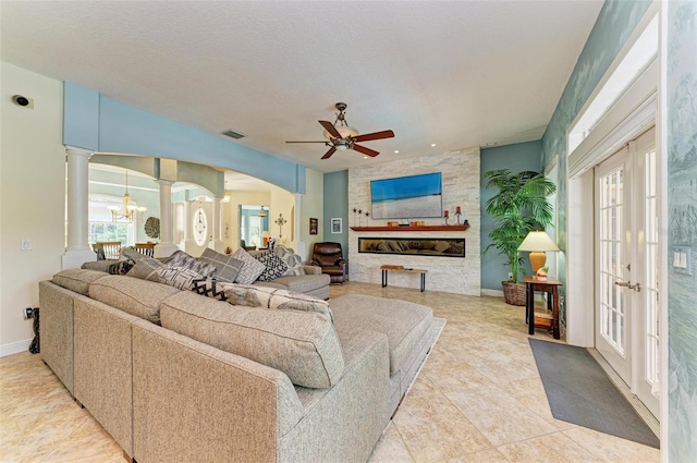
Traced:
<path id="1" fill-rule="evenodd" d="M 479 210 L 479 148 L 449 151 L 439 156 L 407 158 L 348 169 L 348 226 L 384 227 L 387 220 L 354 215 L 353 209 L 370 210 L 370 181 L 395 176 L 441 172 L 443 209 L 451 214 L 450 224 L 456 223 L 452 214 L 462 207 L 462 219 L 469 221 L 467 231 L 457 232 L 355 232 L 348 229 L 348 275 L 351 281 L 381 282 L 381 265 L 401 265 L 428 270 L 426 291 L 480 295 L 480 210 Z M 418 219 L 426 226 L 442 226 L 443 219 Z M 358 236 L 379 236 L 405 240 L 409 237 L 465 237 L 465 258 L 429 256 L 380 255 L 358 253 Z M 390 287 L 419 288 L 417 273 L 392 272 Z"/>

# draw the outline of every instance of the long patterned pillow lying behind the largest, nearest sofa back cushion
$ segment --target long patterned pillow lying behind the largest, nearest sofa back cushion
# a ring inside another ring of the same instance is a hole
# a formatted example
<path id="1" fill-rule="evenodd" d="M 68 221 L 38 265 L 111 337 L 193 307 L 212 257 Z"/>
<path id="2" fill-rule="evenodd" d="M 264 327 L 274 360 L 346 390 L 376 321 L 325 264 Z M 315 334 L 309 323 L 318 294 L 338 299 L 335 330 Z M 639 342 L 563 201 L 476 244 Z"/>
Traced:
<path id="1" fill-rule="evenodd" d="M 333 322 L 329 303 L 307 294 L 252 284 L 225 284 L 225 295 L 232 305 L 288 310 L 318 312 Z"/>

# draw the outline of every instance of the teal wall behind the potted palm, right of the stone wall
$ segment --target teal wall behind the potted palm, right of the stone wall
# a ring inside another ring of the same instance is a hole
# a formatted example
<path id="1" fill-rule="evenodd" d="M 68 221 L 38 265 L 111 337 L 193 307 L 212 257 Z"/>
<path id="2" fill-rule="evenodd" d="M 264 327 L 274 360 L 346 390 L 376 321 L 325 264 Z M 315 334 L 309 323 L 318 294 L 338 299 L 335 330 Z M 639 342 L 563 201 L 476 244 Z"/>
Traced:
<path id="1" fill-rule="evenodd" d="M 540 171 L 540 156 L 542 144 L 540 141 L 518 143 L 515 145 L 499 146 L 496 148 L 482 148 L 480 151 L 480 173 L 494 169 L 510 169 L 513 172 L 524 170 Z M 481 179 L 481 248 L 491 243 L 489 232 L 493 229 L 493 220 L 486 212 L 485 204 L 497 192 L 496 188 L 485 188 L 486 180 Z M 529 264 L 526 264 L 526 272 L 530 272 Z M 481 258 L 481 289 L 501 290 L 501 282 L 509 279 L 510 267 L 506 266 L 505 258 L 496 248 Z"/>

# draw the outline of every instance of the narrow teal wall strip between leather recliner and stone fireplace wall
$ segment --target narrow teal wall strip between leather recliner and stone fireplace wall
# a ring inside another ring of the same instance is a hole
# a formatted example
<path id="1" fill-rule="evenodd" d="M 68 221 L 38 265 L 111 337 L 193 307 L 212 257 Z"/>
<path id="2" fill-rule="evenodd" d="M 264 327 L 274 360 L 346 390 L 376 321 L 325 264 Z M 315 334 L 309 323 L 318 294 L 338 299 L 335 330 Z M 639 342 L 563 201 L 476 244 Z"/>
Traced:
<path id="1" fill-rule="evenodd" d="M 325 174 L 325 208 L 322 232 L 325 241 L 341 243 L 344 258 L 348 260 L 348 171 Z M 342 233 L 331 232 L 331 219 L 342 219 Z M 351 263 L 348 263 L 351 265 Z"/>

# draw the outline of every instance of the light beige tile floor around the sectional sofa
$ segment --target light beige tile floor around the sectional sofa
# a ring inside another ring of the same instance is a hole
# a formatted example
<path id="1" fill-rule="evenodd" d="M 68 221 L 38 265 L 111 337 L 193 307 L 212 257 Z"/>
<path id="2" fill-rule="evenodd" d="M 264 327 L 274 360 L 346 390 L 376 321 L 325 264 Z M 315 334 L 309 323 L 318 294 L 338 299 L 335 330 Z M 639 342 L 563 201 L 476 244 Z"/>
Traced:
<path id="1" fill-rule="evenodd" d="M 496 297 L 348 282 L 448 319 L 370 462 L 658 462 L 659 451 L 554 419 L 528 344 L 524 307 Z M 553 341 L 537 330 L 536 338 Z M 122 451 L 39 355 L 0 358 L 0 462 L 123 462 Z"/>

